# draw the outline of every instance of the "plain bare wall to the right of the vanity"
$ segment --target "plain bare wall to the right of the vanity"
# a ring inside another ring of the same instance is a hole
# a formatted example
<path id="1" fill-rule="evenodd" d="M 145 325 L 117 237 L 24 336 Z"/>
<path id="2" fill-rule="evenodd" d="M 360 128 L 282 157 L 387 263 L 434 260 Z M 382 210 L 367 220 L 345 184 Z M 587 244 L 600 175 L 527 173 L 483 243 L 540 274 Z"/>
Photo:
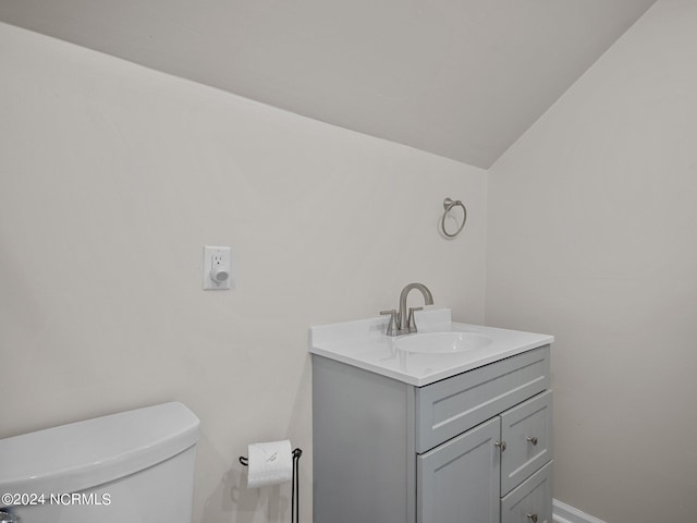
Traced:
<path id="1" fill-rule="evenodd" d="M 555 335 L 554 497 L 693 521 L 697 2 L 659 1 L 489 173 L 487 323 Z"/>

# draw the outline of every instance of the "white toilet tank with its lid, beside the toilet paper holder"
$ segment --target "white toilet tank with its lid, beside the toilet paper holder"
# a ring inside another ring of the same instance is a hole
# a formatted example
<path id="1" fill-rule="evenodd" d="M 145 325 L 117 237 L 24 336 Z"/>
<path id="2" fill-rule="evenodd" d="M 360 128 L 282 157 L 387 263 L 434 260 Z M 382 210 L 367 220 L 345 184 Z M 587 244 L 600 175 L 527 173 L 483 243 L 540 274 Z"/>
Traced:
<path id="1" fill-rule="evenodd" d="M 198 427 L 171 402 L 0 439 L 0 511 L 22 523 L 191 523 Z"/>

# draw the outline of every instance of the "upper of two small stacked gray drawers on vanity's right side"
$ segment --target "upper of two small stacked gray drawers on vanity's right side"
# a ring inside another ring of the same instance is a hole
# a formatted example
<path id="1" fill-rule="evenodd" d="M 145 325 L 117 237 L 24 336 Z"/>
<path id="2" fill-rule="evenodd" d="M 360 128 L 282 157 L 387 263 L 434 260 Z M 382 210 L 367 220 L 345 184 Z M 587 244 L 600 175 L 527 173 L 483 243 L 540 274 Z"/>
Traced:
<path id="1" fill-rule="evenodd" d="M 505 495 L 552 459 L 552 391 L 501 414 L 501 492 Z"/>

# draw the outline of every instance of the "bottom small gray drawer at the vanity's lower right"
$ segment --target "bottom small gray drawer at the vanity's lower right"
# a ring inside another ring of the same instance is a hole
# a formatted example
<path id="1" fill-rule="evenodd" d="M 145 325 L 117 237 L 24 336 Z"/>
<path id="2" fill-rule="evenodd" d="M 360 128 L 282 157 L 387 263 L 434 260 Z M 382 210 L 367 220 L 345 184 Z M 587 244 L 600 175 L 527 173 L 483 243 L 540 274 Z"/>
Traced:
<path id="1" fill-rule="evenodd" d="M 501 498 L 501 523 L 552 523 L 552 462 Z"/>

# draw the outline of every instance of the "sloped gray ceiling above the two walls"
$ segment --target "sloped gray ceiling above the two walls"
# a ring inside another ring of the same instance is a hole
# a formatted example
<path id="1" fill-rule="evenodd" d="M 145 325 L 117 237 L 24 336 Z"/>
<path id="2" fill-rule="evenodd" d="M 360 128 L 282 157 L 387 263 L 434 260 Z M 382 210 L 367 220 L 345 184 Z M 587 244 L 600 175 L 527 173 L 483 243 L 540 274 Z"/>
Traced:
<path id="1" fill-rule="evenodd" d="M 656 0 L 0 0 L 0 21 L 488 168 Z"/>

